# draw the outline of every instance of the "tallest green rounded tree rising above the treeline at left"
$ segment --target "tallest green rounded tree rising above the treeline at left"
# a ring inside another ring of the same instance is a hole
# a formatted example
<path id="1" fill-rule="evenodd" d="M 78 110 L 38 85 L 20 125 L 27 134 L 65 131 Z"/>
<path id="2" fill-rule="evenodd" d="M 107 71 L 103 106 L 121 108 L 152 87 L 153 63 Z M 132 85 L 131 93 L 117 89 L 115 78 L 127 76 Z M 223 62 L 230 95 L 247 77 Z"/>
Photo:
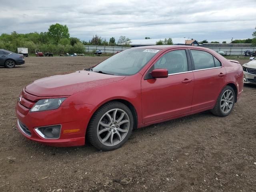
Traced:
<path id="1" fill-rule="evenodd" d="M 70 36 L 68 27 L 58 23 L 50 25 L 48 28 L 48 35 L 54 39 L 56 43 L 58 43 L 61 38 L 69 38 Z"/>

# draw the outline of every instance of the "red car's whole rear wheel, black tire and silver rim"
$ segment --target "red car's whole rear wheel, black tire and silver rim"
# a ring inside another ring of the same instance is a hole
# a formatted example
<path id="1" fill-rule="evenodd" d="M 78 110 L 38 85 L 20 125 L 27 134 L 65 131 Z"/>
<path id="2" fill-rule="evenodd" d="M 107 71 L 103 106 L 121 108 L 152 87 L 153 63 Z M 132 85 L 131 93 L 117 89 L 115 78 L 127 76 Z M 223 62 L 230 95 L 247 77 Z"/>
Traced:
<path id="1" fill-rule="evenodd" d="M 218 96 L 214 108 L 211 110 L 212 114 L 220 117 L 228 116 L 234 108 L 235 96 L 236 94 L 232 87 L 224 87 Z"/>

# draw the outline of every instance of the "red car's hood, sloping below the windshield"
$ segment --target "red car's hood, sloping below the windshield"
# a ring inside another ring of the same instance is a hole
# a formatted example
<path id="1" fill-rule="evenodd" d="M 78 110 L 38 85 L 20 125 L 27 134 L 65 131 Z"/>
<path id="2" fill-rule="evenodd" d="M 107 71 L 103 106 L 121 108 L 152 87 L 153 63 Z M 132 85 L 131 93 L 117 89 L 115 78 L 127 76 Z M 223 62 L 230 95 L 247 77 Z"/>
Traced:
<path id="1" fill-rule="evenodd" d="M 25 91 L 35 96 L 69 96 L 124 78 L 124 76 L 113 76 L 82 70 L 36 80 L 26 86 Z"/>

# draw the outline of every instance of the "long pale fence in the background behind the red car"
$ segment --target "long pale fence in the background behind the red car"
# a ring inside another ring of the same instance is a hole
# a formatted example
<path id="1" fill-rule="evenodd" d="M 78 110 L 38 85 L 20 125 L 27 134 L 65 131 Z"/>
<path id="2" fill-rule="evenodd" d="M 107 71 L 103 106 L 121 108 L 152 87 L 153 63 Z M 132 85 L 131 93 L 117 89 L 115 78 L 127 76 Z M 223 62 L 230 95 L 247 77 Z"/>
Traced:
<path id="1" fill-rule="evenodd" d="M 117 51 L 123 51 L 129 49 L 130 47 L 116 47 L 116 46 L 94 46 L 94 45 L 85 45 L 86 52 L 92 52 L 93 50 L 101 50 L 104 53 L 116 53 Z M 242 55 L 246 50 L 256 51 L 254 47 L 248 48 L 210 48 L 216 52 L 223 51 L 227 55 Z"/>

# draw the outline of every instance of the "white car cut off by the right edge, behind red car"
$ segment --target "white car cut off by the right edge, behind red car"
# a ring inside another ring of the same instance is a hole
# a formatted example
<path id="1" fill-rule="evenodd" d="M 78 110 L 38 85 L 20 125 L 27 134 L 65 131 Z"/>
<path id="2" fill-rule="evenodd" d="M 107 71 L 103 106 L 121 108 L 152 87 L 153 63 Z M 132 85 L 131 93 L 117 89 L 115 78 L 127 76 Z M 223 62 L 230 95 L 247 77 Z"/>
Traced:
<path id="1" fill-rule="evenodd" d="M 256 85 L 256 57 L 251 57 L 250 60 L 250 62 L 243 64 L 244 83 Z"/>

